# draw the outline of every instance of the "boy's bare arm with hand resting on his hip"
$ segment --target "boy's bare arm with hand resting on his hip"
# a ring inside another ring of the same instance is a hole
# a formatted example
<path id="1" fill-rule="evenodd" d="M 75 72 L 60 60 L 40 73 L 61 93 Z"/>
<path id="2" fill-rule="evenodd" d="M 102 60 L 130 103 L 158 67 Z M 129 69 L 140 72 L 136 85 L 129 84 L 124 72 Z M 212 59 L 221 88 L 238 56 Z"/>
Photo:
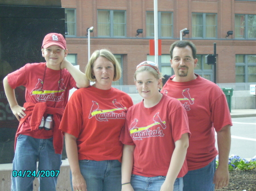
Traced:
<path id="1" fill-rule="evenodd" d="M 26 116 L 26 114 L 23 112 L 26 109 L 18 105 L 15 97 L 15 91 L 9 85 L 7 76 L 3 79 L 3 87 L 5 88 L 5 94 L 10 104 L 11 111 L 13 112 L 17 120 L 20 121 L 20 117 L 23 118 L 24 116 Z"/>

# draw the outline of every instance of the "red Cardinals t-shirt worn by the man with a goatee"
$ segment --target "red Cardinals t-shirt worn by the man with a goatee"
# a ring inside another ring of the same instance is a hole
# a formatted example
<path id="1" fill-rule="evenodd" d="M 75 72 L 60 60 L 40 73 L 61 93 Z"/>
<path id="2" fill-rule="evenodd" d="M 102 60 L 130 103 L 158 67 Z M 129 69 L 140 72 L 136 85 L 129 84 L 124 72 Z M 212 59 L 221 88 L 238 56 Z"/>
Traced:
<path id="1" fill-rule="evenodd" d="M 191 138 L 187 151 L 188 170 L 203 168 L 218 154 L 214 129 L 220 131 L 232 125 L 224 92 L 213 82 L 197 78 L 189 82 L 174 82 L 172 76 L 161 91 L 175 97 L 187 111 Z"/>

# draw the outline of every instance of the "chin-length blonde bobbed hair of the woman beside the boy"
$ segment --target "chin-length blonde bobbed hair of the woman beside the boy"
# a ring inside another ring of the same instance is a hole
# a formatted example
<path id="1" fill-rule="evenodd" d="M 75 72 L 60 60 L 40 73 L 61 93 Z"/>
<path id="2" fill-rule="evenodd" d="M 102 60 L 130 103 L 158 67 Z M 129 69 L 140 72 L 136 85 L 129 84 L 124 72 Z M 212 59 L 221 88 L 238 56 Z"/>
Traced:
<path id="1" fill-rule="evenodd" d="M 86 78 L 89 79 L 90 81 L 96 80 L 92 71 L 93 71 L 94 62 L 100 56 L 108 59 L 110 62 L 113 63 L 114 69 L 115 69 L 113 81 L 117 81 L 118 79 L 120 79 L 122 76 L 121 66 L 120 66 L 119 62 L 117 61 L 117 58 L 115 58 L 114 54 L 112 54 L 109 50 L 106 50 L 106 49 L 95 50 L 93 52 L 92 56 L 90 57 L 89 62 L 85 66 Z"/>

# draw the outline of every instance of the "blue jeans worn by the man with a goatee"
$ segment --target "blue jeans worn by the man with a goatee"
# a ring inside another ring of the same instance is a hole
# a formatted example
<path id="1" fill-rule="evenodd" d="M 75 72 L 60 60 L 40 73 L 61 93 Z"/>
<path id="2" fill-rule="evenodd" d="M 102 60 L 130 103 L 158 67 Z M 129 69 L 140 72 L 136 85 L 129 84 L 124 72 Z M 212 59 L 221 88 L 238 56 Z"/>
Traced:
<path id="1" fill-rule="evenodd" d="M 206 167 L 188 171 L 183 177 L 185 191 L 213 191 L 213 176 L 216 171 L 216 159 Z"/>

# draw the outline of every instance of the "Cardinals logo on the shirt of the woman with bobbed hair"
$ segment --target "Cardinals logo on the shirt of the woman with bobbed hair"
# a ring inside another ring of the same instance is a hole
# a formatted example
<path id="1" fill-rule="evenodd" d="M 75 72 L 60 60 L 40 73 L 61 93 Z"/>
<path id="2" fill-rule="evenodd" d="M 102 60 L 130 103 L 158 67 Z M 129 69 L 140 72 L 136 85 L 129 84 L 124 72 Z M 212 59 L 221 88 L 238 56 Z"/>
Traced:
<path id="1" fill-rule="evenodd" d="M 100 105 L 96 101 L 92 101 L 89 118 L 96 117 L 98 121 L 108 121 L 109 119 L 125 119 L 126 107 L 118 103 L 116 99 L 112 101 L 113 108 L 100 109 Z"/>

